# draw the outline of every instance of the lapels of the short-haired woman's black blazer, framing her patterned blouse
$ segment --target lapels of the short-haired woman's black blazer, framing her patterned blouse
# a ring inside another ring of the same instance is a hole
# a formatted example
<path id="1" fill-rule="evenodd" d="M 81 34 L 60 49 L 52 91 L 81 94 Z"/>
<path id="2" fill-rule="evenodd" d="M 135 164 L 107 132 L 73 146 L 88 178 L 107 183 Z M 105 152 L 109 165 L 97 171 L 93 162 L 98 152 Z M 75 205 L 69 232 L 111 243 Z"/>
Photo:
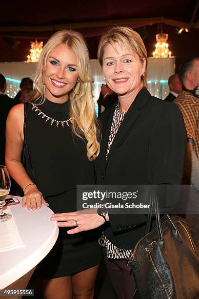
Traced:
<path id="1" fill-rule="evenodd" d="M 109 154 L 107 156 L 107 160 L 106 160 L 106 164 L 108 163 L 108 160 L 110 158 L 110 156 L 112 155 L 112 153 L 120 146 L 120 144 L 125 140 L 126 135 L 128 134 L 130 128 L 132 127 L 132 125 L 135 123 L 136 119 L 139 117 L 140 111 L 139 109 L 143 106 L 146 105 L 149 97 L 150 97 L 150 93 L 148 92 L 148 90 L 143 87 L 138 95 L 136 96 L 134 102 L 131 104 L 131 106 L 129 107 L 126 115 L 124 116 L 124 119 L 117 131 L 117 134 L 113 140 L 113 143 L 111 145 Z M 115 110 L 115 108 L 114 108 Z M 114 111 L 113 111 L 114 113 Z M 110 128 L 112 125 L 112 119 L 113 119 L 113 115 L 111 118 L 111 124 L 109 124 Z M 107 129 L 107 128 L 106 128 Z M 108 138 L 109 138 L 109 133 L 110 133 L 110 129 L 108 131 Z M 107 131 L 105 132 L 105 134 L 107 134 Z M 108 138 L 106 135 L 106 149 L 107 149 L 107 144 L 108 144 Z"/>

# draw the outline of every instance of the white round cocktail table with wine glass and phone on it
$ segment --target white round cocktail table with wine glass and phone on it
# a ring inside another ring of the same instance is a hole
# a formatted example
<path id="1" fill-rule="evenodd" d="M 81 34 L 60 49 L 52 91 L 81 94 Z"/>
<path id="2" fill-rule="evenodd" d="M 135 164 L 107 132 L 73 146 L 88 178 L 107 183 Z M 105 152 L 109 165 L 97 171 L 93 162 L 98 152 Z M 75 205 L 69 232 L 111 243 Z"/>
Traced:
<path id="1" fill-rule="evenodd" d="M 35 211 L 22 208 L 22 197 L 16 197 L 20 204 L 9 208 L 24 246 L 0 251 L 0 289 L 5 289 L 32 270 L 49 253 L 59 234 L 57 222 L 50 220 L 52 210 L 44 205 Z M 6 222 L 0 223 L 0 230 Z"/>

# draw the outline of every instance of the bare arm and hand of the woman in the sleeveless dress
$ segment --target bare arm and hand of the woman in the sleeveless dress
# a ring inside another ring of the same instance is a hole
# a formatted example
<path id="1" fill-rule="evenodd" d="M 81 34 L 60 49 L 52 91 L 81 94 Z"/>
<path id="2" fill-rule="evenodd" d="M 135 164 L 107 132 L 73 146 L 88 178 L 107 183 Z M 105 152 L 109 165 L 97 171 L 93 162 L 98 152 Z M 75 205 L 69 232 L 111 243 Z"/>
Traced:
<path id="1" fill-rule="evenodd" d="M 22 189 L 30 183 L 33 183 L 21 163 L 21 153 L 23 150 L 23 121 L 24 110 L 23 104 L 14 106 L 7 117 L 6 121 L 6 149 L 5 163 L 9 173 Z M 42 193 L 37 186 L 29 185 L 25 189 L 25 195 L 22 200 L 22 207 L 28 209 L 40 209 L 41 203 L 48 205 Z"/>

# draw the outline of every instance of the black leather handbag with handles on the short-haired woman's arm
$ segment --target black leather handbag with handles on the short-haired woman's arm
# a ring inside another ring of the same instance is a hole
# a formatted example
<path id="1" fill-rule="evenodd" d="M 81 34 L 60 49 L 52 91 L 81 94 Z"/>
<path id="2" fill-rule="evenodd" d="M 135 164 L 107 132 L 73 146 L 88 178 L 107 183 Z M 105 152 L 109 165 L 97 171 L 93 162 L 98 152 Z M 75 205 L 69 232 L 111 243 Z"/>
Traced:
<path id="1" fill-rule="evenodd" d="M 149 232 L 153 206 L 157 228 Z M 134 298 L 199 298 L 199 256 L 185 219 L 166 214 L 166 221 L 161 223 L 155 196 L 150 207 L 148 233 L 136 244 L 130 258 L 137 286 Z"/>

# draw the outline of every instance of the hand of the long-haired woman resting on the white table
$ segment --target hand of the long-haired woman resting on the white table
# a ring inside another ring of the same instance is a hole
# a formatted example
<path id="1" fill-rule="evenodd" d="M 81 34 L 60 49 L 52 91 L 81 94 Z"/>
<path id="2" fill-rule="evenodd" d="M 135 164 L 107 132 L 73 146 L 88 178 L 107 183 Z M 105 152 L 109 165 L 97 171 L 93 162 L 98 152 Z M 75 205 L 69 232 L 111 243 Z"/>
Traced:
<path id="1" fill-rule="evenodd" d="M 41 204 L 47 207 L 49 206 L 49 204 L 43 198 L 42 193 L 35 185 L 28 186 L 25 195 L 23 196 L 21 206 L 23 208 L 26 206 L 28 210 L 33 209 L 34 211 L 36 209 L 39 210 L 41 208 Z"/>

